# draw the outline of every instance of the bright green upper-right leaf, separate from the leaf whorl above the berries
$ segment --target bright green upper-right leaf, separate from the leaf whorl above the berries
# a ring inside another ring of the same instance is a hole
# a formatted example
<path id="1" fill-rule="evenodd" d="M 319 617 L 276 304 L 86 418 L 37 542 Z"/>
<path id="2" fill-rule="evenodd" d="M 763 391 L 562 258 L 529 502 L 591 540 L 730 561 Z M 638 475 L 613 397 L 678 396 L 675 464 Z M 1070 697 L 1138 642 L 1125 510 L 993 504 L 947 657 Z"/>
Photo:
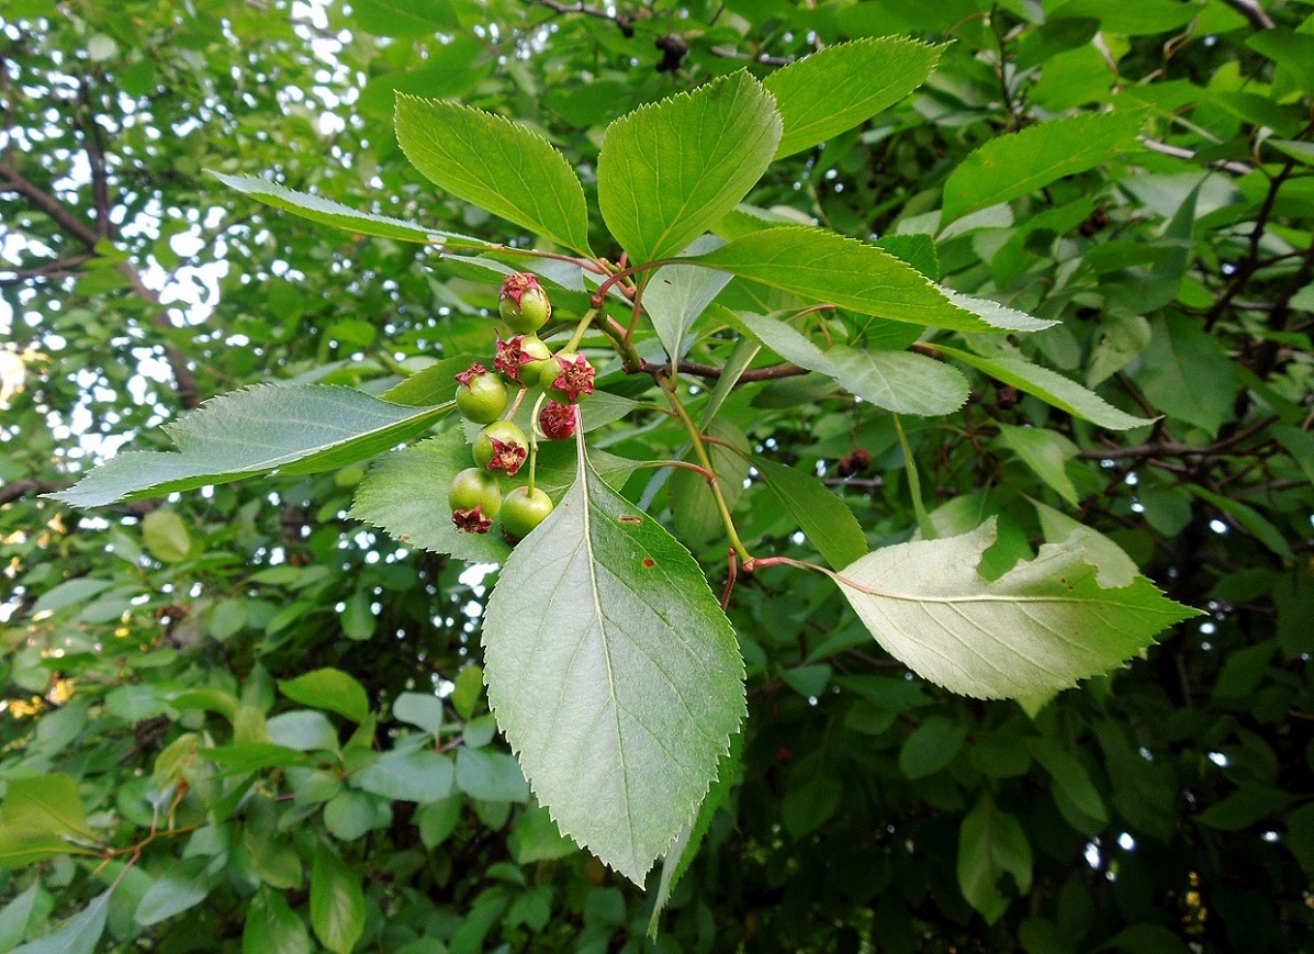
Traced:
<path id="1" fill-rule="evenodd" d="M 945 181 L 941 227 L 1134 148 L 1143 122 L 1142 113 L 1089 113 L 991 139 Z"/>

